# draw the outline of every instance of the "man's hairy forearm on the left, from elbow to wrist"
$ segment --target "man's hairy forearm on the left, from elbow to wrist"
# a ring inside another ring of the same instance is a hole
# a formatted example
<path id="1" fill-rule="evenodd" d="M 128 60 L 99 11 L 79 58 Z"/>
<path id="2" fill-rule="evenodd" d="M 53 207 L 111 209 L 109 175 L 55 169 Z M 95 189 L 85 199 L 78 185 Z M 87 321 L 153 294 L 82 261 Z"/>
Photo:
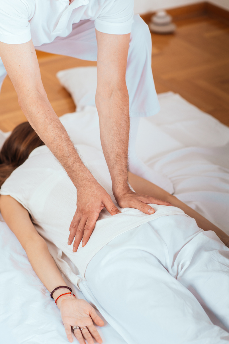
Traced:
<path id="1" fill-rule="evenodd" d="M 82 163 L 67 131 L 55 114 L 46 95 L 38 92 L 30 98 L 19 99 L 21 108 L 41 140 L 59 160 L 73 184 L 93 178 Z"/>

